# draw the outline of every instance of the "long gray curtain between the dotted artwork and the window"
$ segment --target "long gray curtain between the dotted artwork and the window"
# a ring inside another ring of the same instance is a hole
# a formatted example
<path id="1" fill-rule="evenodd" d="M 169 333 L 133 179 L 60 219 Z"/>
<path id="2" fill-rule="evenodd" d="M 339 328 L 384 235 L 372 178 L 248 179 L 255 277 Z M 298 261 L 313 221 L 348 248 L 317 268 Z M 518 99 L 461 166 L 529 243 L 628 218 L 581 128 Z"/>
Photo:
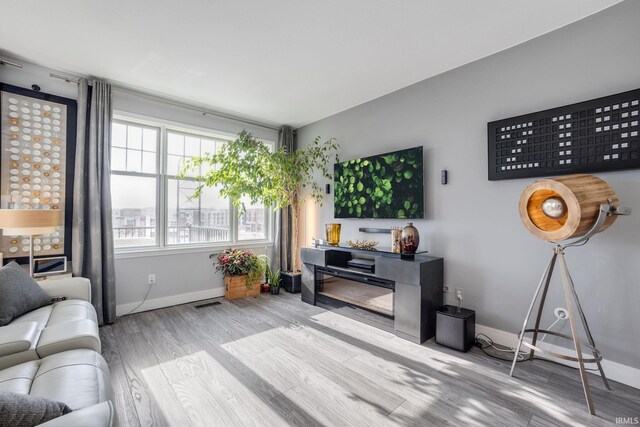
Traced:
<path id="1" fill-rule="evenodd" d="M 111 85 L 78 83 L 78 135 L 73 192 L 72 270 L 91 280 L 100 324 L 113 323 L 116 284 L 111 227 Z"/>

